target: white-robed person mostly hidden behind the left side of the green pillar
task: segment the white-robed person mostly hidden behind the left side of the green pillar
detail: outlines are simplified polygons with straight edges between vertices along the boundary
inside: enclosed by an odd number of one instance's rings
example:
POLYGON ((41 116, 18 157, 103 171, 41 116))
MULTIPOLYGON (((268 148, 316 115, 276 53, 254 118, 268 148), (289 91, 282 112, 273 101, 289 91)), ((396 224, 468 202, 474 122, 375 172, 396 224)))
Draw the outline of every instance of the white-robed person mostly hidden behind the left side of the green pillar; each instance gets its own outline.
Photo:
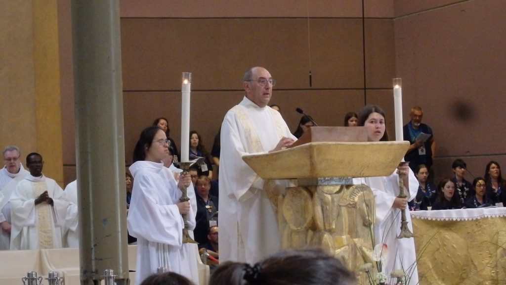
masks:
POLYGON ((79 217, 77 215, 77 180, 65 187, 65 196, 71 202, 67 208, 65 227, 63 227, 63 247, 79 247, 79 217))

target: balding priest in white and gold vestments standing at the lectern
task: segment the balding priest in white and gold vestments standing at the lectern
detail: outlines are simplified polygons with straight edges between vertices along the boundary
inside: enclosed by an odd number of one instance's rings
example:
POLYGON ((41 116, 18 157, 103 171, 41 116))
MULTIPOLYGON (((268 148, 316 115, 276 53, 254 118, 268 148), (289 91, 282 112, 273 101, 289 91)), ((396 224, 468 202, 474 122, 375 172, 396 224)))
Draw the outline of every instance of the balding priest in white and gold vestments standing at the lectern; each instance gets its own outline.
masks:
MULTIPOLYGON (((264 181, 242 156, 278 151, 296 138, 279 112, 267 104, 275 84, 263 67, 249 69, 243 77, 246 95, 225 115, 220 153, 220 262, 255 263, 280 248, 274 208, 264 191, 264 181)), ((276 181, 286 186, 285 181, 276 181)))

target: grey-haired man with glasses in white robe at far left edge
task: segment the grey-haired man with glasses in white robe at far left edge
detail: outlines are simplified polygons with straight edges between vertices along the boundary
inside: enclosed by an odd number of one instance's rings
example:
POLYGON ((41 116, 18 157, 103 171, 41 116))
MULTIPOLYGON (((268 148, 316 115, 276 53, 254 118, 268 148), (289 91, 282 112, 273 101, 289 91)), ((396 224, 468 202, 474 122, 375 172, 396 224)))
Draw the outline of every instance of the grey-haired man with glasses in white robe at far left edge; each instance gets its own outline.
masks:
POLYGON ((8 146, 4 149, 5 167, 0 169, 0 193, 5 197, 0 202, 0 251, 11 248, 11 203, 9 203, 9 199, 16 184, 29 173, 21 165, 20 155, 16 146, 8 146))

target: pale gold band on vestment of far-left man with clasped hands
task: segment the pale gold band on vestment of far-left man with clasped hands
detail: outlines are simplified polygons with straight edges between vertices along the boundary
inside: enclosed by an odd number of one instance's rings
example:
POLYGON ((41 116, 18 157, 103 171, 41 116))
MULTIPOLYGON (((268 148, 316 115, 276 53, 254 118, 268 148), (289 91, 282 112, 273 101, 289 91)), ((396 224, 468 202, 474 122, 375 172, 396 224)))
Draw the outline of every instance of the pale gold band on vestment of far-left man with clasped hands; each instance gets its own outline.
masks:
MULTIPOLYGON (((35 197, 40 196, 40 194, 48 190, 46 181, 32 182, 32 185, 35 197)), ((46 202, 42 202, 35 206, 35 211, 37 215, 38 247, 41 249, 54 248, 51 205, 46 202)))

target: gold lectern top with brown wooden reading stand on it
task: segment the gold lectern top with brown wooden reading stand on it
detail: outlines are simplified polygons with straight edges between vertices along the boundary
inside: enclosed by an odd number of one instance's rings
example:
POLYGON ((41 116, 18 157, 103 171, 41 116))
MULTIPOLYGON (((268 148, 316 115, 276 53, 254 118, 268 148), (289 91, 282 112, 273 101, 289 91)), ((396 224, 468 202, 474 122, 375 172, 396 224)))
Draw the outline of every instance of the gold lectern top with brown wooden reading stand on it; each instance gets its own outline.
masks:
POLYGON ((364 127, 311 127, 289 149, 242 159, 263 179, 387 176, 409 148, 408 141, 366 140, 364 127))

